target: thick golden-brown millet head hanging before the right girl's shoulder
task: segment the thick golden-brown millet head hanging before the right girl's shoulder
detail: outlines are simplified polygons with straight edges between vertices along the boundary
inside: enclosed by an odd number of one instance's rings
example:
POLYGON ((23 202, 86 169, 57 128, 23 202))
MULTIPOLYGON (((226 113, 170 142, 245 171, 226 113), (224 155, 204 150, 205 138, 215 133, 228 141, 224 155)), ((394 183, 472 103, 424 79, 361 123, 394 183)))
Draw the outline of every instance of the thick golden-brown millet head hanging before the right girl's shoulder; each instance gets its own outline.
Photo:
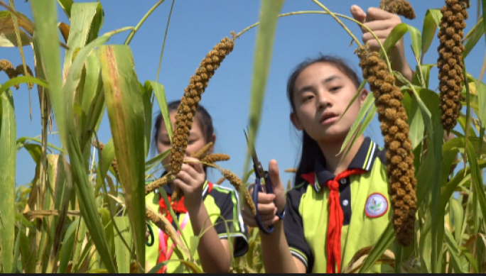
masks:
POLYGON ((362 46, 357 54, 363 77, 368 79, 369 87, 374 92, 374 103, 387 150, 387 175, 396 239, 406 246, 414 239, 417 200, 408 118, 401 102, 403 94, 394 85, 395 77, 377 52, 370 52, 367 46, 362 46))

